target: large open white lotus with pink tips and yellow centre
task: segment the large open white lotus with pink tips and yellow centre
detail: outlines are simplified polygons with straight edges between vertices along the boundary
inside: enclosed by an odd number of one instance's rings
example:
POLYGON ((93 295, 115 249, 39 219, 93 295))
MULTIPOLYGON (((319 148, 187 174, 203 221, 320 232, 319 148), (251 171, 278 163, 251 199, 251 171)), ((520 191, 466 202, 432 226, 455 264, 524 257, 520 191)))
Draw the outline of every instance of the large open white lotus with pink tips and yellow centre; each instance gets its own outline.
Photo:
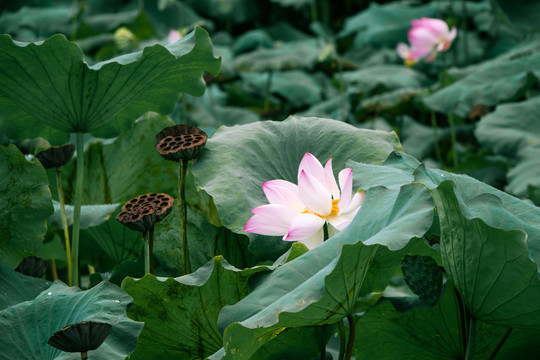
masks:
POLYGON ((313 249, 323 242, 326 223, 329 235, 343 230, 364 201, 363 191, 352 193, 352 169, 341 170, 338 179, 339 188, 332 159, 323 168, 315 156, 306 153, 298 168, 298 185, 285 180, 263 184, 270 204, 251 210, 254 215, 244 231, 283 236, 285 241, 299 241, 313 249))

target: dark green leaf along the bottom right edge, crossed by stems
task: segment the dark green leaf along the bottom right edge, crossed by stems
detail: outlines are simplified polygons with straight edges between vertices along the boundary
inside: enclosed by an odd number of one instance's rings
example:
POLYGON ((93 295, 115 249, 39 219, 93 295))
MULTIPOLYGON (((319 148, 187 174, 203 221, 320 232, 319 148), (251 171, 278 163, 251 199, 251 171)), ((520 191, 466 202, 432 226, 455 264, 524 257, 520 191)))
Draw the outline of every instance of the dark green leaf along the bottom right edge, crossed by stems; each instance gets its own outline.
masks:
MULTIPOLYGON (((451 282, 433 307, 399 312, 389 301, 368 309, 356 323, 357 359, 463 359, 459 304, 451 282), (384 343, 384 346, 381 346, 384 343)), ((506 329, 480 322, 474 358, 487 360, 506 329)), ((536 359, 538 331, 514 329, 497 359, 536 359), (519 355, 518 355, 519 354, 519 355)))

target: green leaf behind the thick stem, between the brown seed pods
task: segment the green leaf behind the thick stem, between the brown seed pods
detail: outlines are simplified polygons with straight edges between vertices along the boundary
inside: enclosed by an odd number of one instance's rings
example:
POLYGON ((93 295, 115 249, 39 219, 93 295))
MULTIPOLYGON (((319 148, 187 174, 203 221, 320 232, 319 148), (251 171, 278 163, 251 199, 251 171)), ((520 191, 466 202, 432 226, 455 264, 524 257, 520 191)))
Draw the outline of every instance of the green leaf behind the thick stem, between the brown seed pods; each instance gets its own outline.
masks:
MULTIPOLYGON (((171 125, 174 122, 168 117, 147 113, 114 142, 91 143, 85 151, 83 203, 124 203, 151 192, 176 194, 178 164, 163 159, 154 145, 156 134, 171 125)), ((64 166, 63 172, 66 202, 70 202, 76 162, 64 166)))

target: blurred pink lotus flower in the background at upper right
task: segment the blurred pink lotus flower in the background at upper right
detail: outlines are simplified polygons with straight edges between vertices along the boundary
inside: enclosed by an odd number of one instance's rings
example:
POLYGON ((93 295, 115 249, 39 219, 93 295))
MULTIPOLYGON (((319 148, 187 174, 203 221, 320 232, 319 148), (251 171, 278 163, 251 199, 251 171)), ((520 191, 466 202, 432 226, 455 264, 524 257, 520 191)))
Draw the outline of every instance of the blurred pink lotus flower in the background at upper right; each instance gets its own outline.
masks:
POLYGON ((448 25, 439 19, 421 18, 411 22, 409 42, 411 47, 399 43, 397 53, 405 59, 406 65, 414 65, 419 59, 428 56, 426 62, 433 61, 440 51, 446 51, 456 37, 457 30, 448 29, 448 25))

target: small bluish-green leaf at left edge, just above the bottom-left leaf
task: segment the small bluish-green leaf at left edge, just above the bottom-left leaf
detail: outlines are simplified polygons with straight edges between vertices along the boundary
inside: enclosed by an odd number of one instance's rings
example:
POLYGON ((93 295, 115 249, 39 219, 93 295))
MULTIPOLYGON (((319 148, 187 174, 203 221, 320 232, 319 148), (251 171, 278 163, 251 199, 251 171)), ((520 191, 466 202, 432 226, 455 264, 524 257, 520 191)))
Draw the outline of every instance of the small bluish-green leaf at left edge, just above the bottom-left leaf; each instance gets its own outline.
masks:
POLYGON ((49 286, 50 281, 23 275, 0 263, 0 311, 34 299, 49 286))

